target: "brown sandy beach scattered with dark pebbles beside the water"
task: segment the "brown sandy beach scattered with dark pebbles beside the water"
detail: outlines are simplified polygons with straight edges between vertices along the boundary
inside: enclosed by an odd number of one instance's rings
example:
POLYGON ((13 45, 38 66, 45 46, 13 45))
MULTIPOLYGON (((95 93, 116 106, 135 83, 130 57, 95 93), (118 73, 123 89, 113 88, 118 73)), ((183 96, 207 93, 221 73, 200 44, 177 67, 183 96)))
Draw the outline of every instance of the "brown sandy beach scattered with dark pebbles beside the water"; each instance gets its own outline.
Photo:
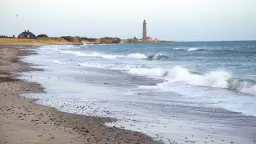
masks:
POLYGON ((0 144, 159 143, 145 134, 104 126, 111 118, 66 114, 19 97, 43 92, 38 84, 15 78, 18 72, 35 70, 18 58, 32 54, 20 49, 35 47, 0 45, 0 144))

